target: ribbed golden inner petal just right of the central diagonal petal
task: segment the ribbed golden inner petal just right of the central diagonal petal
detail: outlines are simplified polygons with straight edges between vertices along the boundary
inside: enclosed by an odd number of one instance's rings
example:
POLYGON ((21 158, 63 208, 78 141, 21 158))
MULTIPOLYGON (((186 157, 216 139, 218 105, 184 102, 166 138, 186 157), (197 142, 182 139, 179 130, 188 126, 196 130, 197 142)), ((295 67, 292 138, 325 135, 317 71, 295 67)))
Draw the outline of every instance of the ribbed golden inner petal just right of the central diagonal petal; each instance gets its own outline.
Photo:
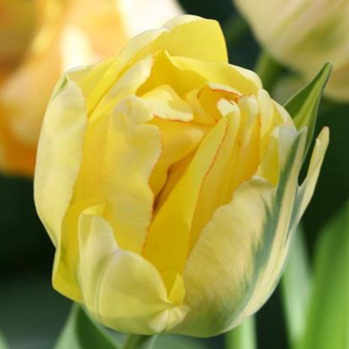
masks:
POLYGON ((189 252, 215 210, 231 201, 233 192, 253 175, 259 163, 259 109, 256 98, 244 96, 237 104, 222 99, 218 107, 227 120, 228 132, 201 187, 189 252))

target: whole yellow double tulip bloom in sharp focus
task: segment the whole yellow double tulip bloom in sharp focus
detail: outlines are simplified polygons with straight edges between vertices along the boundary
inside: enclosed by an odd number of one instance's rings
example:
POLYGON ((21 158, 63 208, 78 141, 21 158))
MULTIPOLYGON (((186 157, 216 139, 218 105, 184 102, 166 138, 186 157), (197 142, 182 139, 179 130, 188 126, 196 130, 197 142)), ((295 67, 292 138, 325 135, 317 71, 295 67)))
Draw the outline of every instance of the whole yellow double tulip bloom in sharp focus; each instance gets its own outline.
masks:
POLYGON ((328 143, 301 190, 306 128, 228 64, 216 21, 179 16, 51 97, 35 174, 53 285, 122 332, 211 336, 266 301, 328 143))

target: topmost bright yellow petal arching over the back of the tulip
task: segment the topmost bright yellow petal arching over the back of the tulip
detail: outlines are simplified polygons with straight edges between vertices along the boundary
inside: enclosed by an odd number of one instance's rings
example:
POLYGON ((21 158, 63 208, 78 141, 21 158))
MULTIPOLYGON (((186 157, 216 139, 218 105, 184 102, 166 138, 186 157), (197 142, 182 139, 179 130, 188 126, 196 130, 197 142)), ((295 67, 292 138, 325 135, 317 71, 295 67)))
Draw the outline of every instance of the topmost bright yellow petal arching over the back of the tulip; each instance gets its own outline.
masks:
POLYGON ((93 111, 102 96, 118 80, 123 70, 158 50, 207 61, 228 62, 227 48, 218 22, 201 17, 183 15, 174 18, 163 28, 148 30, 134 37, 121 53, 91 69, 80 82, 90 94, 88 110, 93 111), (195 45, 193 45, 193 42, 195 45))

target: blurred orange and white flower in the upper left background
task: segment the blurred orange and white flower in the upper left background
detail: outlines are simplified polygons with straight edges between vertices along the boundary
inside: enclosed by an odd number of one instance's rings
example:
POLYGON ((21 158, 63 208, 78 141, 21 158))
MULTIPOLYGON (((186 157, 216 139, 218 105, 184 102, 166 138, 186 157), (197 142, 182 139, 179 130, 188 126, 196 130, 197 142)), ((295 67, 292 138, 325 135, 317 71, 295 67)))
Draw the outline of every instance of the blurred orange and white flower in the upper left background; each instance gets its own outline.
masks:
POLYGON ((175 0, 2 1, 0 171, 33 174, 42 118, 62 72, 116 54, 131 36, 180 13, 175 0))

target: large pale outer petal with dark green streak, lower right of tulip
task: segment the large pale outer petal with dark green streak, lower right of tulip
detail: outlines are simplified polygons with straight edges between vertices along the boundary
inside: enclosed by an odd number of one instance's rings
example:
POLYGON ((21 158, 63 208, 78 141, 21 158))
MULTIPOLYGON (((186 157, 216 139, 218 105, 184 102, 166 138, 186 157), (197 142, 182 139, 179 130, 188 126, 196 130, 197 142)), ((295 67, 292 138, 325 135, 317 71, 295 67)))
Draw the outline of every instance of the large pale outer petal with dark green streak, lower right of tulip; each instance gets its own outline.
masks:
POLYGON ((305 137, 280 128, 279 186, 253 177, 203 229, 183 274, 190 312, 173 332, 216 335, 237 326, 268 298, 287 250, 305 137))

